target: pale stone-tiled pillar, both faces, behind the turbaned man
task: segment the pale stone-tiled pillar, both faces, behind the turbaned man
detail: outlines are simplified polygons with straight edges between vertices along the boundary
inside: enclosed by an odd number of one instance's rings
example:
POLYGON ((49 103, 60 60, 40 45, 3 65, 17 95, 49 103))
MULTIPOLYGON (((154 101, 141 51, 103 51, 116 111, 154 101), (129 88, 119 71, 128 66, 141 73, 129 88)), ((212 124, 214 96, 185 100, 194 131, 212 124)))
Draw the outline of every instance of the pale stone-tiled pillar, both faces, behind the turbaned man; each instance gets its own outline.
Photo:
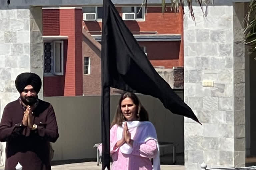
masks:
MULTIPOLYGON (((18 99, 15 79, 23 72, 35 72, 43 80, 41 8, 9 9, 0 7, 0 110, 18 99)), ((43 89, 40 91, 40 98, 43 89)), ((5 143, 2 162, 5 162, 5 143)), ((0 161, 1 163, 1 161, 0 161)))

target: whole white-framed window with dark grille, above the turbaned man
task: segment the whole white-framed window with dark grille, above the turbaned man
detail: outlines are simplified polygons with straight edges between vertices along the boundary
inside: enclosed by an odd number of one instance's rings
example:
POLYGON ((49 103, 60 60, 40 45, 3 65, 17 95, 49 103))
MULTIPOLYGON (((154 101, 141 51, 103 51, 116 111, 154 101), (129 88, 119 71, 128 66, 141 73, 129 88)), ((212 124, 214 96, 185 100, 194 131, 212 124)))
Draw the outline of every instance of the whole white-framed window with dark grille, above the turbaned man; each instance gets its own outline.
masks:
POLYGON ((44 74, 63 75, 63 41, 44 42, 44 74))

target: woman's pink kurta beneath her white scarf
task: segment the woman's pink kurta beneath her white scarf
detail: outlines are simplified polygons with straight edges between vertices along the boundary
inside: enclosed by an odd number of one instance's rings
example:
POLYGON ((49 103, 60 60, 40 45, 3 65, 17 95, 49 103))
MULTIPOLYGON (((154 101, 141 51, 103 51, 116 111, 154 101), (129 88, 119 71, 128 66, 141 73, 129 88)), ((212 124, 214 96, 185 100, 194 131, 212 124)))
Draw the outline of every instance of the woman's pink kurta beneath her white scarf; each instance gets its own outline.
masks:
MULTIPOLYGON (((150 158, 157 153, 156 141, 153 139, 146 143, 134 141, 132 153, 124 154, 116 147, 117 127, 118 125, 114 125, 110 129, 110 154, 113 160, 111 170, 152 170, 150 158)), ((99 150, 101 151, 101 147, 99 150)))

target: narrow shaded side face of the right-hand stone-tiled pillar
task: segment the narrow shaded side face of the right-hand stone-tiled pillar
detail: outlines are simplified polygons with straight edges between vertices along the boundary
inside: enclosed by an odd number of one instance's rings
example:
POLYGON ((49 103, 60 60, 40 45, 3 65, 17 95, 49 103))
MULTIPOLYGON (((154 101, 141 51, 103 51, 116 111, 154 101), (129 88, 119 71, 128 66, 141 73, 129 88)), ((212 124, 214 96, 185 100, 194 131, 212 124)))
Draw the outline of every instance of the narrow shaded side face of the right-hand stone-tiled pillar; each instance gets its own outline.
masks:
MULTIPOLYGON (((233 3, 234 55, 234 165, 245 165, 245 3, 233 3)), ((248 57, 248 56, 247 56, 248 57)))

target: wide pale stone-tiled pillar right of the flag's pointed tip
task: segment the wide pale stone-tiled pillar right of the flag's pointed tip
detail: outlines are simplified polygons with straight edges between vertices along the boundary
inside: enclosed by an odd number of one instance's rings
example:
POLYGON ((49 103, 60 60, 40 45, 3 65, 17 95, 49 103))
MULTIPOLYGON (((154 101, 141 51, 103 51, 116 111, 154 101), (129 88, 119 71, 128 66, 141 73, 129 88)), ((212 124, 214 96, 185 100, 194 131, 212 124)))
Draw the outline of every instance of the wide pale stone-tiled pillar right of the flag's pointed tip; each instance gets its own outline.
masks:
MULTIPOLYGON (((243 8, 243 7, 241 7, 243 8)), ((202 126, 184 118, 185 169, 245 164, 243 58, 235 58, 232 0, 194 6, 196 24, 185 8, 184 99, 202 126), (240 65, 239 65, 240 64, 240 65), (202 81, 214 82, 203 87, 202 81)))

